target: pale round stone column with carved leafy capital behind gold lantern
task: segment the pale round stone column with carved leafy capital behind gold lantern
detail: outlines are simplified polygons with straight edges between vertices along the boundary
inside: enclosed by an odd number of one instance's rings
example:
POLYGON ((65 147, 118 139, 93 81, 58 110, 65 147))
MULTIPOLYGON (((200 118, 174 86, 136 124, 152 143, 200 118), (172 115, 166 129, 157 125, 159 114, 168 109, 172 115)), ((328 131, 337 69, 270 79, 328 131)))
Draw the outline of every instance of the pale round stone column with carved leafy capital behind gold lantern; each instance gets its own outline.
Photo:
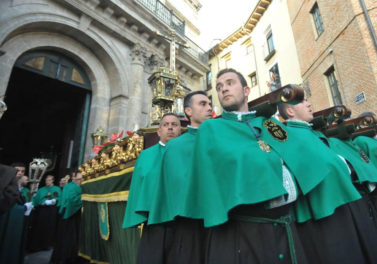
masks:
POLYGON ((131 49, 131 74, 130 93, 127 106, 126 129, 131 129, 132 124, 141 124, 141 111, 143 106, 143 72, 146 62, 152 54, 139 44, 131 49))

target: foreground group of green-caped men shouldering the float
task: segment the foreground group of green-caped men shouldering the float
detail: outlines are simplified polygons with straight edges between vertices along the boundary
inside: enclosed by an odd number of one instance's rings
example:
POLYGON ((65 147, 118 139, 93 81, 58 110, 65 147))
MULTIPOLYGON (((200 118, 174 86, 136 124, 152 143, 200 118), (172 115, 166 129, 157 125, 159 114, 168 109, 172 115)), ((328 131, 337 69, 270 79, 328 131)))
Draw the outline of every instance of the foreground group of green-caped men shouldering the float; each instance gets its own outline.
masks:
POLYGON ((216 91, 221 118, 192 92, 187 132, 165 114, 136 160, 123 222, 142 225, 136 262, 377 263, 377 140, 313 130, 306 99, 278 106, 286 124, 257 116, 234 69, 216 91))

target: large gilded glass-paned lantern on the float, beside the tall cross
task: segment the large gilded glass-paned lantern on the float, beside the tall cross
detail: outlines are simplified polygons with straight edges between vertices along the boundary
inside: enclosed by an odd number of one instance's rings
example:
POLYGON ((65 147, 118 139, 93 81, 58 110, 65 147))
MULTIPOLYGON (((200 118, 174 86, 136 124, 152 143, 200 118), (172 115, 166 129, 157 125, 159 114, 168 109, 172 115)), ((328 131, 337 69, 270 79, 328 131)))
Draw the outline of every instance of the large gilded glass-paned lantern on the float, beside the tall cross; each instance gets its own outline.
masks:
MULTIPOLYGON (((160 108, 161 116, 170 112, 172 105, 175 103, 174 95, 176 86, 179 83, 178 74, 170 71, 167 67, 160 67, 148 78, 148 84, 152 89, 153 99, 152 106, 160 108)), ((155 121, 155 120, 153 120, 155 121)))

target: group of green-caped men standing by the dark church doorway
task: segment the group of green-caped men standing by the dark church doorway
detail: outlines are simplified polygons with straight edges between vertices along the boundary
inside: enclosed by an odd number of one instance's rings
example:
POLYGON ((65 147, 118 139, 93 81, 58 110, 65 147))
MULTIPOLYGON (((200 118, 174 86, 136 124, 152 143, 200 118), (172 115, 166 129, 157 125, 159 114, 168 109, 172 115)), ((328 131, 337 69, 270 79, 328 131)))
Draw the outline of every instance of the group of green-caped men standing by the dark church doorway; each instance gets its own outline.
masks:
MULTIPOLYGON (((46 186, 36 192, 28 186, 26 165, 0 165, 0 263, 22 264, 25 251, 54 247, 49 263, 81 263, 78 235, 81 215, 81 173, 72 173, 67 183, 44 177, 46 186), (16 183, 16 184, 15 184, 16 183), (17 189, 16 189, 17 188, 17 189)), ((35 186, 31 186, 35 190, 35 186)))

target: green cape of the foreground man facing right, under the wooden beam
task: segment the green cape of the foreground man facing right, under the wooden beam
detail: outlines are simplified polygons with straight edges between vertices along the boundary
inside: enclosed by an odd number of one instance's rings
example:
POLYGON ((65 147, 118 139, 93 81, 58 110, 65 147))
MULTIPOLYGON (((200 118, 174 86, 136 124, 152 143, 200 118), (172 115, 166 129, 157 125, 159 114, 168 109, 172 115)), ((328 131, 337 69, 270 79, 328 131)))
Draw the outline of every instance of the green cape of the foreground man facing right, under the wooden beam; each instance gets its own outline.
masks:
MULTIPOLYGON (((298 136, 307 144, 307 148, 315 150, 310 155, 306 150, 302 152, 303 158, 311 163, 307 166, 319 170, 321 167, 327 167, 331 171, 313 190, 305 196, 299 196, 294 206, 295 221, 300 223, 312 218, 320 219, 332 215, 337 207, 361 198, 351 182, 344 161, 320 140, 310 125, 288 121, 287 131, 290 135, 298 136)), ((307 172, 307 166, 302 170, 303 173, 307 172)))

